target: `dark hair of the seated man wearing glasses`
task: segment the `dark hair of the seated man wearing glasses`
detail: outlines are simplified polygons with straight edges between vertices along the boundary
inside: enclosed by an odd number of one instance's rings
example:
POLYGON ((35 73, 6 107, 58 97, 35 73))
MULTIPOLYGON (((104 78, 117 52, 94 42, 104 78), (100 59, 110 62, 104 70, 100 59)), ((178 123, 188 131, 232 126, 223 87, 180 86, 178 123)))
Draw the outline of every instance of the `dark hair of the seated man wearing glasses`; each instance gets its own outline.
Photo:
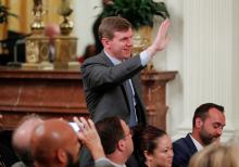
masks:
POLYGON ((111 154, 115 151, 117 142, 124 138, 124 130, 120 117, 108 117, 96 123, 104 153, 111 154))

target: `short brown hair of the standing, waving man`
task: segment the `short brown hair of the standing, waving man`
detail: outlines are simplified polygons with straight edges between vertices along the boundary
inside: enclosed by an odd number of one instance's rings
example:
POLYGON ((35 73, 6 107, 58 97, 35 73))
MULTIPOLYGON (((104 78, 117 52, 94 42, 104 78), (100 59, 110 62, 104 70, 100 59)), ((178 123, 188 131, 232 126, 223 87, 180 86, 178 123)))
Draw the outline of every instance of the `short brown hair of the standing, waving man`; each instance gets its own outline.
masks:
POLYGON ((105 17, 99 26, 99 37, 100 39, 103 37, 112 39, 115 31, 127 31, 129 28, 131 28, 131 24, 123 17, 105 17))

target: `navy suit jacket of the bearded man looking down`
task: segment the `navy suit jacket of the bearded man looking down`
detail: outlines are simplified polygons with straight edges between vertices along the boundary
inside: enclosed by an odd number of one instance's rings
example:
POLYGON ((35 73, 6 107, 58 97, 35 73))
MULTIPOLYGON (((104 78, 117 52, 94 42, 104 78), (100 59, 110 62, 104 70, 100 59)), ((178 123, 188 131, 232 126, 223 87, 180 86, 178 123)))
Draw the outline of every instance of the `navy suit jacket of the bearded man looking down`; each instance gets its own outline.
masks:
POLYGON ((174 150, 173 167, 187 167, 190 157, 196 152, 198 152, 189 133, 186 136, 186 138, 181 138, 175 141, 173 143, 173 150, 174 150))

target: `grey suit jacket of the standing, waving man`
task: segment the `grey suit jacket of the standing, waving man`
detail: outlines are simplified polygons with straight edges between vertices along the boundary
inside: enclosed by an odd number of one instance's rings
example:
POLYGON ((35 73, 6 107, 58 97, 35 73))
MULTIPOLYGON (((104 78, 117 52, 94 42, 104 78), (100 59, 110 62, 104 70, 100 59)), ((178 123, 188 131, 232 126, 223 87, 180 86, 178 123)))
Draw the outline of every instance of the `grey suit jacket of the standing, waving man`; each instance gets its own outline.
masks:
MULTIPOLYGON (((131 78, 135 85, 135 76, 142 68, 139 56, 114 66, 103 51, 84 62, 81 66, 84 90, 87 106, 95 123, 110 116, 120 116, 126 124, 129 123, 129 102, 123 84, 131 78)), ((144 107, 136 88, 135 93, 137 117, 139 124, 144 125, 144 107)))

